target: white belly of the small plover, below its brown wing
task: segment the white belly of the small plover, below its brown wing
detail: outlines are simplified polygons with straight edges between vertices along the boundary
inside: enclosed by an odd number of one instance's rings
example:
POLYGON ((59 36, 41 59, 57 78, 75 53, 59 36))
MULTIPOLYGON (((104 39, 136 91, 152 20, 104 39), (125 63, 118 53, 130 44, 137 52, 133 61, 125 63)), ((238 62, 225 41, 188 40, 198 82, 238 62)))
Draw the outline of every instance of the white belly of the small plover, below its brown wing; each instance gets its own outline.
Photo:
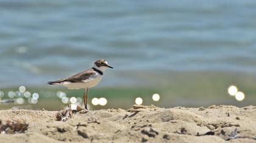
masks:
POLYGON ((85 82, 71 82, 71 83, 62 83, 61 85, 68 87, 69 89, 80 89, 80 88, 90 88, 94 87, 101 81, 101 76, 98 76, 97 78, 94 78, 90 81, 85 82))

